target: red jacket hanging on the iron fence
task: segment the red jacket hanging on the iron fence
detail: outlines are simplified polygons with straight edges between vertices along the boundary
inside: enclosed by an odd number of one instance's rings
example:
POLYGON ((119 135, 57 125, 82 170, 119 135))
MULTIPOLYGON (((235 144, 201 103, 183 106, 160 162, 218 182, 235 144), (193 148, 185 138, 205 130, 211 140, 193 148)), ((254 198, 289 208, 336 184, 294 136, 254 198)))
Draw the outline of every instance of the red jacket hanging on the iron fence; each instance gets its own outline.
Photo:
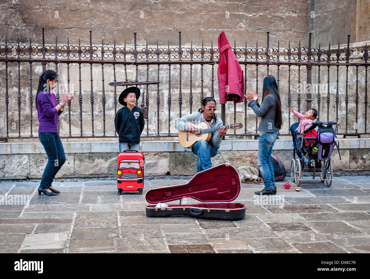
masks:
POLYGON ((218 36, 218 49, 220 50, 220 58, 218 62, 217 78, 220 104, 226 104, 226 101, 243 102, 243 70, 223 31, 218 36))

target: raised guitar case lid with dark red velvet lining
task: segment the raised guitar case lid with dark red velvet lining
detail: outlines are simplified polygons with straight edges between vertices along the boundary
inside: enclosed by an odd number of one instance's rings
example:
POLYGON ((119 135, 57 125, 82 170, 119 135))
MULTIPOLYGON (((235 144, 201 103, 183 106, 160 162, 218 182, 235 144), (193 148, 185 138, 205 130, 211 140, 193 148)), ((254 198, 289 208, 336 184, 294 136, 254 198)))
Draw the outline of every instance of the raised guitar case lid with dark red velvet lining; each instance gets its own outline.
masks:
POLYGON ((238 172, 233 166, 222 164, 195 174, 186 184, 149 190, 145 199, 151 204, 165 203, 185 197, 194 198, 203 203, 225 202, 235 200, 239 192, 238 172))

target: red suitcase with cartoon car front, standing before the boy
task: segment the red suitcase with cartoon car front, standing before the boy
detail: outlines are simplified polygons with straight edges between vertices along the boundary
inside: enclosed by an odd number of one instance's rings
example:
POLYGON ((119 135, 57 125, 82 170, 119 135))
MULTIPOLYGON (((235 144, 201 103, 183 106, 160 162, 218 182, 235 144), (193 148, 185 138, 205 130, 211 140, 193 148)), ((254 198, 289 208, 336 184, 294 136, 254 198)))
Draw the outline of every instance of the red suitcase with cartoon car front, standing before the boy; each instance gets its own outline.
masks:
POLYGON ((144 155, 126 150, 117 156, 117 189, 122 192, 139 192, 144 188, 144 155))

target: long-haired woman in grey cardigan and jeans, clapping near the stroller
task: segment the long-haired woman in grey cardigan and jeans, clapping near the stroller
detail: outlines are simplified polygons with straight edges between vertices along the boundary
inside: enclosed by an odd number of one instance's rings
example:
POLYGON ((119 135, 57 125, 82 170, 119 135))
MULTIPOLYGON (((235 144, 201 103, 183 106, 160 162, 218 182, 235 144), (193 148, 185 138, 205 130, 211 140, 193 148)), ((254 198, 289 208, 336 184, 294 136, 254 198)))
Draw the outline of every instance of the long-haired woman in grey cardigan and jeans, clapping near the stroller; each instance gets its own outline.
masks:
POLYGON ((253 95, 247 90, 245 98, 248 99, 248 106, 261 118, 258 126, 259 142, 257 165, 263 176, 265 188, 255 192, 256 195, 276 194, 274 169, 271 164, 272 148, 277 138, 277 131, 282 126, 281 101, 277 90, 276 79, 268 75, 263 79, 262 104, 258 104, 259 95, 253 91, 253 95))

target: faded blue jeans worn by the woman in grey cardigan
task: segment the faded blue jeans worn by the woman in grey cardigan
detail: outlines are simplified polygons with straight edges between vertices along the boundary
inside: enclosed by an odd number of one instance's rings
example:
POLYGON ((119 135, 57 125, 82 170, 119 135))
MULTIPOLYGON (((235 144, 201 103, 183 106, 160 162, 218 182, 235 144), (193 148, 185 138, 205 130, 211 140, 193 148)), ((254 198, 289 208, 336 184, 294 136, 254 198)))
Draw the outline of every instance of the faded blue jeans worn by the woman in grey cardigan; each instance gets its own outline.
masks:
POLYGON ((277 132, 267 133, 259 137, 257 165, 261 167, 265 190, 272 190, 275 187, 275 174, 271 164, 271 154, 276 137, 277 132))

